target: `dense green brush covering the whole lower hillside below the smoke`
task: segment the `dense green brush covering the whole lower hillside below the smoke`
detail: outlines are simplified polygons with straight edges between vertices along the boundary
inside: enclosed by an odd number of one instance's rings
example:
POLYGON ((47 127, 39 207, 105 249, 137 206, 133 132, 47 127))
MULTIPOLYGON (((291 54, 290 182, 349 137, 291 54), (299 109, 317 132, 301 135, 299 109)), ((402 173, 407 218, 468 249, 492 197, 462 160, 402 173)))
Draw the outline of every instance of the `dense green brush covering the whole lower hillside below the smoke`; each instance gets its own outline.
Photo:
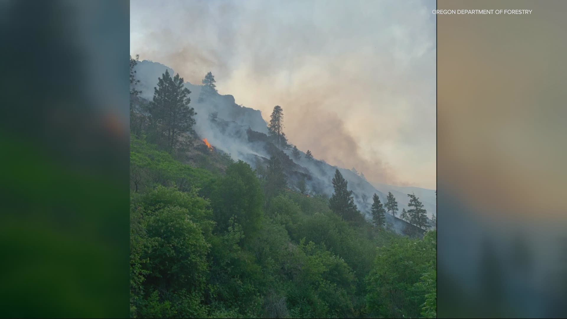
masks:
POLYGON ((434 231, 387 230, 378 196, 366 221, 338 170, 329 199, 287 188, 275 157, 262 172, 208 149, 190 162, 168 125, 130 136, 132 317, 436 316, 434 231))

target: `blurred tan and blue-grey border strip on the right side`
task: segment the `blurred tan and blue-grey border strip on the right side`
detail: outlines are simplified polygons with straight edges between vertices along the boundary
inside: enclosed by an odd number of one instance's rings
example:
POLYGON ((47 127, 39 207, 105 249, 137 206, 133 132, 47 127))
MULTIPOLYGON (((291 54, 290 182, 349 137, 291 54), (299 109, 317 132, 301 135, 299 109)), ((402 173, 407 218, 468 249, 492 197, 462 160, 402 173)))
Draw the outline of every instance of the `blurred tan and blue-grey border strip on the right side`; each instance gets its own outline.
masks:
POLYGON ((438 316, 565 318, 567 2, 437 9, 438 316))

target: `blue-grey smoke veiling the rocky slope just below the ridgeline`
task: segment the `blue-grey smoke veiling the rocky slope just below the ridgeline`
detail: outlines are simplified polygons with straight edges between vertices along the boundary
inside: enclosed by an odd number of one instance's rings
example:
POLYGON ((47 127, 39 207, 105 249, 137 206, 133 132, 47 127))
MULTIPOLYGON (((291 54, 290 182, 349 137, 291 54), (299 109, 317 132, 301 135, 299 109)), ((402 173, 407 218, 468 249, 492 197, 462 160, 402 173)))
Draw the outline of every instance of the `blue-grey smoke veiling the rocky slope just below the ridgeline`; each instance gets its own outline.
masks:
MULTIPOLYGON (((138 90, 142 91, 142 98, 148 100, 153 98, 158 77, 162 77, 166 70, 172 76, 175 75, 174 70, 158 62, 138 62, 136 76, 140 81, 138 90)), ((402 190, 400 187, 386 184, 379 184, 379 187, 375 187, 352 170, 332 166, 315 158, 308 159, 306 154, 301 151, 299 159, 293 158, 291 149, 282 150, 269 140, 267 136, 268 126, 261 112, 236 104, 234 96, 214 94, 204 101, 198 102, 202 86, 185 82, 185 87, 191 90, 189 95, 191 107, 197 112, 195 131, 201 138, 207 138, 215 149, 230 154, 233 159, 241 159, 252 167, 257 167, 257 165, 266 165, 270 157, 278 157, 282 162, 282 167, 284 167, 289 188, 297 189, 299 180, 305 179, 309 190, 327 196, 333 194, 331 181, 335 175, 335 170, 338 169, 348 182, 349 190, 353 191, 354 202, 367 220, 371 219, 371 203, 363 203, 363 194, 369 199, 377 194, 382 203, 385 203, 386 194, 391 191, 399 202, 400 211, 407 204, 407 195, 404 194, 404 191, 407 190, 405 189, 402 190), (211 117, 211 114, 216 116, 211 117)), ((430 191, 422 188, 420 190, 430 191)), ((431 215, 430 202, 430 199, 424 201, 429 216, 431 215)), ((416 236, 422 236, 423 230, 389 213, 386 214, 386 220, 397 233, 403 234, 411 231, 416 236)))

